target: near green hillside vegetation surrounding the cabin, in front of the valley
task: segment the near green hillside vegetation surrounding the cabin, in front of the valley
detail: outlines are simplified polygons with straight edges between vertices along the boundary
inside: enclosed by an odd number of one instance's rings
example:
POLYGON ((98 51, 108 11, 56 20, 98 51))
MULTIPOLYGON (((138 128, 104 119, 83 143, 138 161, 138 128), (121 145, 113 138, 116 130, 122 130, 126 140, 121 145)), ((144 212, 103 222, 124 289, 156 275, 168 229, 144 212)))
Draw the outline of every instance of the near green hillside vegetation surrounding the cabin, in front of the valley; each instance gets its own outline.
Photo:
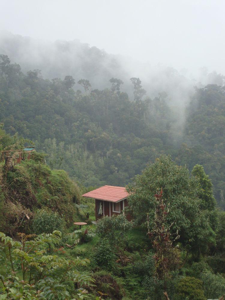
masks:
POLYGON ((1 299, 223 300, 225 212, 202 166, 161 155, 127 186, 132 221, 93 222, 88 189, 26 142, 0 128, 1 299))

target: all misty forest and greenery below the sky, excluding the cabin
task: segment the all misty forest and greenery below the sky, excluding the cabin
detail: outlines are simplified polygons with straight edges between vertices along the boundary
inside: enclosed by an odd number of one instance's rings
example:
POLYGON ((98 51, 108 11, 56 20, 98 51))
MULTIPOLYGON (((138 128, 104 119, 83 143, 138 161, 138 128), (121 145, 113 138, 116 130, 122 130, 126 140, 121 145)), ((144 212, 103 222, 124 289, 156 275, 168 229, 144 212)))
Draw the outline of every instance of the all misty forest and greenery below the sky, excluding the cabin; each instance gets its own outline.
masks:
POLYGON ((224 75, 2 31, 0 151, 0 300, 224 300, 224 75))

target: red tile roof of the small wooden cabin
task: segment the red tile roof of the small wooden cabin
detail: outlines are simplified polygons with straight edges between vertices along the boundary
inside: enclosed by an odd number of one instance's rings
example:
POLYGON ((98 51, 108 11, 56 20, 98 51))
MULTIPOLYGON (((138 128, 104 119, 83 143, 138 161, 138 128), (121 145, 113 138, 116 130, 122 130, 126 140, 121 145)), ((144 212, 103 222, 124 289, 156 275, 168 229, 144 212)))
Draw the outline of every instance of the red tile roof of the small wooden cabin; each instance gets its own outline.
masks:
POLYGON ((128 192, 125 187, 114 187, 111 185, 104 185, 91 192, 82 195, 87 198, 95 198, 99 200, 105 200, 110 202, 117 202, 125 199, 128 196, 128 192))

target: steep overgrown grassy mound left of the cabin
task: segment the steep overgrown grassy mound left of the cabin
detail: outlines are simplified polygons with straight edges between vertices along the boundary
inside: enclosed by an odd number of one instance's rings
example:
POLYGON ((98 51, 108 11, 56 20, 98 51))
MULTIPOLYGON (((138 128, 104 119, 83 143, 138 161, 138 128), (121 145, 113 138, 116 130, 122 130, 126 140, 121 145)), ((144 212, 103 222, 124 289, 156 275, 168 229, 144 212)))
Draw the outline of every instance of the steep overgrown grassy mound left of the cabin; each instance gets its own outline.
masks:
MULTIPOLYGON (((2 133, 1 140, 4 139, 2 133)), ((44 164, 44 156, 36 152, 30 160, 14 165, 16 153, 9 152, 7 160, 0 164, 1 230, 10 236, 16 232, 29 233, 34 230, 32 219, 40 209, 46 213, 50 209, 69 226, 75 213, 74 203, 79 202, 80 197, 76 184, 65 171, 50 170, 44 164)))

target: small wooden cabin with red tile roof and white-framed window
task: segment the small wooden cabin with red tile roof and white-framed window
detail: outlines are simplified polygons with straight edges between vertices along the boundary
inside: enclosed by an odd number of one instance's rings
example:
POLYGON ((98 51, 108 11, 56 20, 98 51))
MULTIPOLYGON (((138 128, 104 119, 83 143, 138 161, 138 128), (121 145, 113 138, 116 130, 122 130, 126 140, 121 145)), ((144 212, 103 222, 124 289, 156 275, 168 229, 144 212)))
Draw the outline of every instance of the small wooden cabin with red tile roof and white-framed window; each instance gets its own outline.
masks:
MULTIPOLYGON (((82 196, 95 199, 96 220, 104 216, 111 217, 113 214, 125 214, 124 208, 128 206, 128 192, 125 187, 104 185, 82 196)), ((129 221, 132 219, 132 215, 129 212, 126 212, 126 217, 129 221)))

